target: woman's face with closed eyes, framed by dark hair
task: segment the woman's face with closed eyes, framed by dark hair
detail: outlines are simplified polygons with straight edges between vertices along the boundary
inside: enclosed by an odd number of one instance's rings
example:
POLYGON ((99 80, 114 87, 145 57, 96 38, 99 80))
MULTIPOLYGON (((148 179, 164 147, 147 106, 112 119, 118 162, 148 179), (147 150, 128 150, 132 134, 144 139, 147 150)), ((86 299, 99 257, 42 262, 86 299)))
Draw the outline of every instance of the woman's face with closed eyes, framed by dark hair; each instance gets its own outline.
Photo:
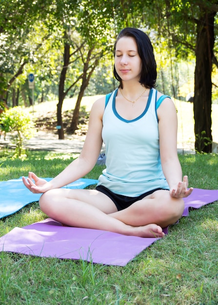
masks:
POLYGON ((115 49, 115 69, 122 81, 137 80, 141 74, 141 58, 132 37, 122 37, 115 49))

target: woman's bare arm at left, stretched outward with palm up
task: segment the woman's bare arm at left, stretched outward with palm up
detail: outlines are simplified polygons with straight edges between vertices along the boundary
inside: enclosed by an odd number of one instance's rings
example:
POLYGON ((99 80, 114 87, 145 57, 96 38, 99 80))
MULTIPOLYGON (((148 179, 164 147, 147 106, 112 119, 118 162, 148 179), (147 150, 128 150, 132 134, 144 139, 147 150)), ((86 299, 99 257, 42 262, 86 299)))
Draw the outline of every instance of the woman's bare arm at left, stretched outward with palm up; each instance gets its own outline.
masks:
POLYGON ((92 106, 89 116, 88 132, 79 157, 49 182, 46 182, 44 179, 39 179, 34 173, 29 172, 27 180, 23 177, 23 183, 30 191, 42 193, 51 189, 61 188, 83 177, 92 170, 102 146, 101 131, 104 105, 105 97, 102 97, 92 106))

